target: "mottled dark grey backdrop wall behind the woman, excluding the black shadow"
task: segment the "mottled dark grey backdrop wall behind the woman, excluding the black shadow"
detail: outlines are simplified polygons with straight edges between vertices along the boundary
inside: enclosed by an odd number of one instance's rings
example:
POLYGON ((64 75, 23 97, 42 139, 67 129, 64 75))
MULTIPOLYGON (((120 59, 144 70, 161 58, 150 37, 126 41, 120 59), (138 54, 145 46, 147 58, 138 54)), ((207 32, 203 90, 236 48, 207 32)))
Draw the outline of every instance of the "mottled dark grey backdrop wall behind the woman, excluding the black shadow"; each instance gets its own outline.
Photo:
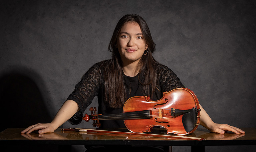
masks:
MULTIPOLYGON (((256 126, 255 1, 2 0, 1 130, 50 122, 88 68, 110 58, 114 27, 130 13, 147 21, 154 57, 195 92, 213 121, 256 126)), ((251 148, 207 146, 206 151, 251 148)), ((78 150, 83 148, 73 147, 78 150)))

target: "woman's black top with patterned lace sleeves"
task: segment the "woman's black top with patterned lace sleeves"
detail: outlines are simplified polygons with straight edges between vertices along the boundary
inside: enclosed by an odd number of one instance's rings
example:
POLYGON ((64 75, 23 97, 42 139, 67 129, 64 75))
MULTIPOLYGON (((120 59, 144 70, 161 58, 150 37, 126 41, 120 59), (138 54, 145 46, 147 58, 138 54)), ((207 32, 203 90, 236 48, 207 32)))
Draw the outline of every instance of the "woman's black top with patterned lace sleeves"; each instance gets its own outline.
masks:
MULTIPOLYGON (((84 110, 91 104, 95 96, 98 97, 99 104, 97 113, 102 115, 122 113, 122 108, 113 109, 104 102, 104 73, 107 73, 109 69, 108 63, 107 61, 102 61, 94 64, 83 75, 81 81, 76 84, 75 90, 67 98, 67 100, 75 101, 80 108, 68 120, 72 125, 77 125, 82 121, 84 110)), ((158 64, 156 70, 157 89, 153 96, 151 96, 151 100, 156 101, 161 99, 163 92, 184 87, 177 75, 167 66, 158 64)), ((126 99, 133 96, 143 96, 142 85, 138 81, 138 76, 129 77, 124 75, 124 83, 126 87, 126 99)), ((123 120, 101 120, 100 123, 101 128, 126 128, 123 120)))

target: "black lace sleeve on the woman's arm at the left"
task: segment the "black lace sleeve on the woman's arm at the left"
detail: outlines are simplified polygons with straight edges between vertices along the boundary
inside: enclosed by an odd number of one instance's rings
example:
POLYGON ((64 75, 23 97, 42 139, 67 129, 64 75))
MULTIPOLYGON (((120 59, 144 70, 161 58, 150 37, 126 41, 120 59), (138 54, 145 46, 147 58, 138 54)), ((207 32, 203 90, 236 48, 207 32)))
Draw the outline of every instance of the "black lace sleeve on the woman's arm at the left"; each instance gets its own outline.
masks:
POLYGON ((93 65, 82 77, 81 81, 75 86, 75 90, 67 100, 75 101, 80 110, 69 120, 72 125, 81 123, 84 110, 91 104, 93 98, 97 96, 100 85, 102 84, 102 73, 99 64, 93 65))

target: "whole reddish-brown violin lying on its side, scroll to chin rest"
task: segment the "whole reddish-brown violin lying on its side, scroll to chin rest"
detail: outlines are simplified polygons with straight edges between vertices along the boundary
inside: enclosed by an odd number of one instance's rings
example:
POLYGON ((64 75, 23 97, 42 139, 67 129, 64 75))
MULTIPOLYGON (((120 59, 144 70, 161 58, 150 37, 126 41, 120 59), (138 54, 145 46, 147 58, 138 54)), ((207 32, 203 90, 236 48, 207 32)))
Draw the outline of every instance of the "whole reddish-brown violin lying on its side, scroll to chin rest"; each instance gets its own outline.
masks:
POLYGON ((157 101, 148 96, 131 97, 124 103, 120 114, 101 115, 91 107, 91 115, 85 114, 82 119, 93 120, 94 127, 100 127, 99 120, 123 119, 126 128, 135 133, 151 132, 154 126, 165 128, 167 134, 186 135, 195 131, 201 109, 194 92, 177 88, 163 94, 163 98, 157 101))

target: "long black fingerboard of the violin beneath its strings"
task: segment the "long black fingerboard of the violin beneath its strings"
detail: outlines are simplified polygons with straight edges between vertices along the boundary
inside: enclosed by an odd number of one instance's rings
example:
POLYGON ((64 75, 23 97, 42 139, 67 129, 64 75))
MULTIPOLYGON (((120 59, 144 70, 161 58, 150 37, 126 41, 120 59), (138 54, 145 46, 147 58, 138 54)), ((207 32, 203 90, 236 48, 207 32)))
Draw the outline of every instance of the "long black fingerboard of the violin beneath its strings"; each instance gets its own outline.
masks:
POLYGON ((98 120, 111 119, 150 119, 152 117, 151 110, 125 112, 119 114, 98 115, 98 120))

